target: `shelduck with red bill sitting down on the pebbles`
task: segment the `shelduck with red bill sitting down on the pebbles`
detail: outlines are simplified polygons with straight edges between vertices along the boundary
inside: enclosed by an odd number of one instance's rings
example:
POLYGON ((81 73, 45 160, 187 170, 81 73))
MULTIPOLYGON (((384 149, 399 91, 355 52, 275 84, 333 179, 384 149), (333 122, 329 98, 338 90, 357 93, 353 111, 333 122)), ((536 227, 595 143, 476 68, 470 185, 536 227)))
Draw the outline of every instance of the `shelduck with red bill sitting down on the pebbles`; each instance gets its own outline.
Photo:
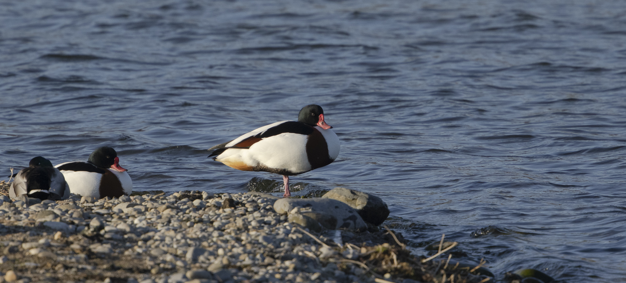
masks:
POLYGON ((120 166, 110 147, 94 150, 87 162, 65 162, 55 166, 63 173, 69 190, 84 197, 121 197, 133 192, 128 170, 120 166))

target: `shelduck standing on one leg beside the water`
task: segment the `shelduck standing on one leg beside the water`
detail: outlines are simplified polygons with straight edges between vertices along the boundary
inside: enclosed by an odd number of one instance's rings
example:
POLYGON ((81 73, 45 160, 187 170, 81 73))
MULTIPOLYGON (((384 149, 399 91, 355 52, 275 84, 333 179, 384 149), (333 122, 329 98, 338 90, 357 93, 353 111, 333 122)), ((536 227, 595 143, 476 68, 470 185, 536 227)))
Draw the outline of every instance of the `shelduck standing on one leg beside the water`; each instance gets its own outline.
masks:
POLYGON ((311 104, 300 110, 298 121, 262 126, 209 148, 214 151, 208 157, 239 170, 280 174, 283 197, 290 197, 289 176, 329 165, 339 155, 339 138, 331 128, 322 107, 311 104))

